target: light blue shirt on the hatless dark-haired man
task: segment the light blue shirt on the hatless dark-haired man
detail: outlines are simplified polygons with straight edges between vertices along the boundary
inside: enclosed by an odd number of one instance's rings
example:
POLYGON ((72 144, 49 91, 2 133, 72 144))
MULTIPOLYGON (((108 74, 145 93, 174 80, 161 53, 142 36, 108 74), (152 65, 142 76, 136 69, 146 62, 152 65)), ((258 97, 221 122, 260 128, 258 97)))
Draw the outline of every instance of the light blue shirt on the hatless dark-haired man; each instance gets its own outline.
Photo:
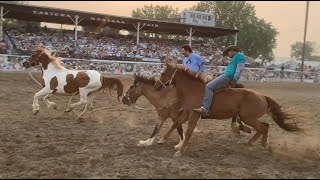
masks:
POLYGON ((196 53, 191 53, 188 57, 185 57, 182 63, 187 69, 195 73, 204 71, 204 60, 196 53))

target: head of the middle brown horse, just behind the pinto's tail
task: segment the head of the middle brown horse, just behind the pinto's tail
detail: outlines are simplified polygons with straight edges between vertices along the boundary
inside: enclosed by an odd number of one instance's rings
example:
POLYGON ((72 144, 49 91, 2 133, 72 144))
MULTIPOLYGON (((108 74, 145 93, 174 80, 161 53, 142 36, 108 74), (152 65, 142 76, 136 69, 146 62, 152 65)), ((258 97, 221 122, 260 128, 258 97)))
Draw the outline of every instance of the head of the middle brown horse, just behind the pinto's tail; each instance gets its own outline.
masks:
POLYGON ((137 99, 142 95, 142 87, 139 83, 139 78, 139 76, 134 74, 134 83, 124 94, 122 98, 123 104, 130 106, 131 104, 134 104, 137 101, 137 99))

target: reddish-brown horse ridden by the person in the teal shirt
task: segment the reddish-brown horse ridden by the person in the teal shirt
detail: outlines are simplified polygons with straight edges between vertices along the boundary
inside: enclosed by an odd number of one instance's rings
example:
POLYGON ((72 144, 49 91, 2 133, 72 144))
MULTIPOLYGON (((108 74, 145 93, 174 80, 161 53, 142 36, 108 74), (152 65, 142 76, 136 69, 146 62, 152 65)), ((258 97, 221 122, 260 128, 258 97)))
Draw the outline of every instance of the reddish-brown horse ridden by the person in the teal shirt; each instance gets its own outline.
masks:
MULTIPOLYGON (((188 118, 175 122, 172 126, 188 121, 185 139, 175 153, 180 156, 184 152, 190 140, 192 132, 200 119, 200 114, 194 109, 200 107, 204 96, 206 83, 190 76, 183 68, 177 67, 172 63, 166 63, 166 69, 154 85, 156 90, 160 90, 164 84, 172 82, 176 86, 178 97, 182 101, 182 108, 188 118)), ((223 88, 215 92, 211 107, 210 119, 229 119, 239 116, 241 121, 256 130, 254 136, 248 141, 252 145, 261 135, 261 145, 268 144, 269 124, 260 122, 258 119, 264 114, 269 113, 273 120, 286 131, 301 131, 294 122, 286 120, 292 119, 292 114, 283 112, 280 105, 268 96, 246 88, 223 88)))

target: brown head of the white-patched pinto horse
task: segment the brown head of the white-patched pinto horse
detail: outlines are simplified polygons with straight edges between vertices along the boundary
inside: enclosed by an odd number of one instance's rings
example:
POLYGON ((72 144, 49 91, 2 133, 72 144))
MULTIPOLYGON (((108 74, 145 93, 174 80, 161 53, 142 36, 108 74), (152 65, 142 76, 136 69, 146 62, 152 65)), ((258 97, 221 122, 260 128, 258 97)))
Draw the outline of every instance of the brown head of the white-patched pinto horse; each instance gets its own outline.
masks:
POLYGON ((45 52, 45 49, 38 48, 34 54, 32 54, 26 61, 22 63, 25 68, 34 67, 40 65, 41 67, 46 67, 50 63, 49 56, 45 52))

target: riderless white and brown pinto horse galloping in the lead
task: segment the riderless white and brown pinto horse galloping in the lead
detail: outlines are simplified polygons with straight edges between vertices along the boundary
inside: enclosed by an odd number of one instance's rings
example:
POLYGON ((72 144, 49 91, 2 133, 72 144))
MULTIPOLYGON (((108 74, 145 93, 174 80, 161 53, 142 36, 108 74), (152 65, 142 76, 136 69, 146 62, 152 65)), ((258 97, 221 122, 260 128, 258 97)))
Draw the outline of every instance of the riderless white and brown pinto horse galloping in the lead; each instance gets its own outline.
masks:
MULTIPOLYGON (((84 114, 87 110, 88 95, 100 90, 117 89, 118 100, 123 94, 123 84, 117 78, 109 78, 101 75, 94 70, 69 70, 66 69, 57 57, 51 56, 43 48, 38 48, 30 58, 23 62, 23 67, 29 68, 40 65, 44 80, 44 87, 34 95, 33 114, 39 112, 39 96, 45 96, 44 101, 49 107, 55 107, 55 103, 48 100, 49 94, 67 94, 72 95, 79 92, 80 101, 68 104, 67 112, 73 108, 86 104, 85 109, 80 114, 84 114)), ((119 100, 120 101, 120 100, 119 100)))

